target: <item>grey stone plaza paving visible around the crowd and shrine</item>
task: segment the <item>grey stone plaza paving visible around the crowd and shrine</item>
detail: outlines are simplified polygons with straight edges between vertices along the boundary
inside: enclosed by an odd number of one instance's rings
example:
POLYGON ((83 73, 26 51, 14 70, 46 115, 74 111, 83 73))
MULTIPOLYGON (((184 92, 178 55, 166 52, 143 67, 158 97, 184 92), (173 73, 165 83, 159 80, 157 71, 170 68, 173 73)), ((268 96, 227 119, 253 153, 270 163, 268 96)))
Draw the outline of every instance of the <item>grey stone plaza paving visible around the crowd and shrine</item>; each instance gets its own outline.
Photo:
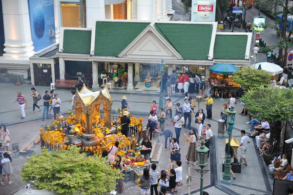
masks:
MULTIPOLYGON (((29 97, 31 94, 30 88, 32 86, 28 84, 22 84, 21 86, 15 86, 13 84, 8 83, 0 83, 1 94, 5 96, 1 96, 0 98, 0 121, 2 123, 7 124, 7 128, 11 132, 11 143, 19 143, 21 145, 25 145, 31 141, 33 137, 38 136, 39 128, 41 125, 51 124, 53 119, 48 119, 42 121, 42 111, 35 112, 34 114, 30 114, 32 111, 32 98, 29 97), (16 94, 18 91, 21 91, 22 94, 27 98, 29 107, 25 109, 26 117, 21 120, 21 112, 19 110, 19 106, 17 103, 11 103, 10 101, 15 100, 16 94)), ((49 87, 35 86, 37 91, 43 96, 45 90, 49 90, 49 87)), ((61 111, 63 113, 67 113, 67 111, 71 108, 71 104, 68 103, 71 99, 71 94, 69 89, 58 89, 56 90, 56 94, 59 95, 61 99, 61 111)), ((149 106, 152 100, 156 100, 159 102, 159 95, 155 92, 144 91, 144 92, 134 92, 134 91, 126 91, 126 90, 110 90, 111 97, 113 99, 112 113, 116 113, 115 107, 121 106, 121 97, 126 95, 128 98, 127 101, 130 105, 130 112, 133 112, 134 115, 145 115, 144 120, 146 120, 146 114, 149 111, 149 106)), ((194 96, 194 95, 193 95, 194 96)), ((175 94, 171 97, 171 101, 173 105, 177 102, 183 104, 184 97, 182 95, 175 94)), ((224 185, 220 183, 220 179, 222 177, 222 161, 220 160, 220 156, 224 154, 225 148, 225 139, 217 138, 217 120, 220 118, 220 112, 222 110, 223 103, 227 103, 228 99, 225 101, 220 101, 219 99, 214 99, 214 104, 212 107, 213 119, 205 120, 206 124, 211 124, 211 130, 213 132, 214 138, 211 142, 211 152, 209 165, 205 169, 209 169, 210 171, 204 176, 204 188, 205 191, 209 192, 211 195, 222 195, 222 194, 241 194, 241 195, 264 195, 264 194, 272 194, 272 182, 270 179, 268 167, 263 163, 262 158, 259 156, 259 152, 254 149, 255 139, 251 138, 251 144, 248 145, 247 151, 247 160, 248 166, 242 166, 241 174, 235 174, 236 180, 233 180, 232 185, 224 185)), ((42 104, 41 102, 39 104, 42 104)), ((40 105, 41 106, 41 105, 40 105)), ((204 109, 206 113, 205 105, 201 103, 200 107, 204 109)), ((42 106, 41 106, 42 108, 42 106)), ((242 105, 238 100, 238 104, 236 105, 235 110, 237 113, 241 112, 242 105)), ((247 116, 240 116, 236 114, 235 118, 235 129, 233 130, 233 135, 235 139, 240 139, 240 130, 249 129, 249 125, 245 122, 248 121, 249 118, 247 116)), ((194 119, 192 119, 191 125, 194 125, 194 119)), ((170 128, 173 131, 173 135, 175 136, 175 132, 173 126, 165 127, 165 129, 170 128)), ((182 161, 183 161, 183 182, 184 184, 179 187, 179 194, 187 193, 187 184, 184 176, 187 175, 188 166, 192 169, 198 168, 191 164, 187 164, 184 161, 184 157, 187 154, 188 143, 184 142, 185 138, 183 133, 188 133, 187 129, 182 129, 180 136, 180 146, 183 148, 181 150, 182 161)), ((227 134, 225 134, 227 138, 227 134)), ((164 144, 162 144, 163 146, 164 144)), ((10 148, 11 150, 11 148, 10 148)), ((167 169, 169 167, 169 151, 162 151, 160 156, 160 161, 158 164, 158 170, 167 169), (162 159, 162 160, 161 160, 162 159)), ((26 161, 25 157, 14 158, 13 159, 13 183, 11 185, 5 184, 4 186, 0 186, 0 194, 14 194, 18 189, 24 186, 24 183, 21 182, 21 177, 19 175, 21 165, 26 161)), ((199 185, 200 185, 200 175, 192 170, 192 193, 199 194, 199 185)), ((6 182, 7 183, 7 182, 6 182)), ((132 182, 127 182, 125 184, 125 191, 123 194, 139 194, 139 188, 136 187, 136 184, 132 182)))

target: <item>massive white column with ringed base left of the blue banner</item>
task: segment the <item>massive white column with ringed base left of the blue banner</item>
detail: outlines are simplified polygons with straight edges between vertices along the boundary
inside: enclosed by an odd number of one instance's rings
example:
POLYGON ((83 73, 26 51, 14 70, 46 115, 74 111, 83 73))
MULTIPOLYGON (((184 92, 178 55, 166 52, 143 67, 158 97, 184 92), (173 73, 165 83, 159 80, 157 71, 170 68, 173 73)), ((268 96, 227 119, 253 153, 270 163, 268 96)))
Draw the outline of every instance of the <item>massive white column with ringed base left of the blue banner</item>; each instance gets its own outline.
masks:
POLYGON ((2 0, 4 59, 28 59, 35 54, 27 0, 2 0))

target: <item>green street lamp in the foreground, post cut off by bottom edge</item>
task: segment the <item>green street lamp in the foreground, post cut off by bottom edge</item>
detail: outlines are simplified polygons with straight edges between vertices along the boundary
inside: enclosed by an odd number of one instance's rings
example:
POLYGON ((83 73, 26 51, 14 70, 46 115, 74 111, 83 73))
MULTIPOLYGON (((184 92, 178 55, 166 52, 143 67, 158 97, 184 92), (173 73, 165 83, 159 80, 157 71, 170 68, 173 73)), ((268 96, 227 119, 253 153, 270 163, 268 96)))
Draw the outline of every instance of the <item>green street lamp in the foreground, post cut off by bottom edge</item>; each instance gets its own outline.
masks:
POLYGON ((200 147, 196 148, 197 151, 197 164, 201 169, 195 169, 198 173, 200 173, 200 195, 203 195, 204 190, 204 174, 208 173, 209 170, 204 170, 204 167, 208 165, 208 154, 209 148, 205 146, 205 141, 200 142, 200 147))

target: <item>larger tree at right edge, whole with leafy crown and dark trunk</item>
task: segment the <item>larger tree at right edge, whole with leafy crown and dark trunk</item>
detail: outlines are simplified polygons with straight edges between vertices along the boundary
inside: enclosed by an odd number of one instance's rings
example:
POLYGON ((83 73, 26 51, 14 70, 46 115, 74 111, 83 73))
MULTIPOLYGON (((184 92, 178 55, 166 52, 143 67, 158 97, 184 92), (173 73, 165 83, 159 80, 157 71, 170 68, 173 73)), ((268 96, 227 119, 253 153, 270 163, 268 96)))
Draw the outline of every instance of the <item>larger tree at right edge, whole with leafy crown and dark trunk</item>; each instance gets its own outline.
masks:
POLYGON ((292 97, 292 89, 269 87, 252 90, 241 98, 248 111, 270 123, 270 154, 278 152, 283 124, 293 118, 292 97))

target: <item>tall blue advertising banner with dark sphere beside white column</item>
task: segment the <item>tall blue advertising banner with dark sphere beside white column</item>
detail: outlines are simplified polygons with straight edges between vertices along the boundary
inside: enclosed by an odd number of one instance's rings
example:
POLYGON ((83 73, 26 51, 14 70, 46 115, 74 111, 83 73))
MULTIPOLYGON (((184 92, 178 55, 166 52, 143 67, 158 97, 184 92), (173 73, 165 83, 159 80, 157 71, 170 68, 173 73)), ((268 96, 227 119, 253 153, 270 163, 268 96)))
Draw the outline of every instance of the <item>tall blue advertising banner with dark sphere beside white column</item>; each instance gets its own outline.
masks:
POLYGON ((29 21, 35 52, 56 42, 53 0, 28 0, 29 21))

